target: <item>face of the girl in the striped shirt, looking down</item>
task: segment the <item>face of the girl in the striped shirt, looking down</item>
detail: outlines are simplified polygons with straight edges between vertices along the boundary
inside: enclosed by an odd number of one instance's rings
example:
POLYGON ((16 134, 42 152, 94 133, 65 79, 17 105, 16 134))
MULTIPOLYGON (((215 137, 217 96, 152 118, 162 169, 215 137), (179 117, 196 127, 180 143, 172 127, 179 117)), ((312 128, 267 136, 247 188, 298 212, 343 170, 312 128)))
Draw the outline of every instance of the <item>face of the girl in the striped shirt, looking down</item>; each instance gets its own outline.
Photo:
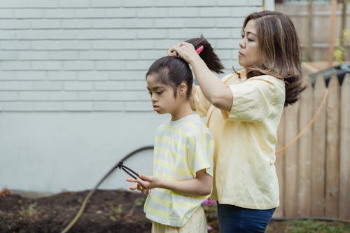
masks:
POLYGON ((153 111, 160 114, 173 114, 176 111, 178 101, 174 97, 174 89, 171 85, 160 83, 158 78, 155 78, 153 75, 148 75, 147 89, 151 95, 153 111))

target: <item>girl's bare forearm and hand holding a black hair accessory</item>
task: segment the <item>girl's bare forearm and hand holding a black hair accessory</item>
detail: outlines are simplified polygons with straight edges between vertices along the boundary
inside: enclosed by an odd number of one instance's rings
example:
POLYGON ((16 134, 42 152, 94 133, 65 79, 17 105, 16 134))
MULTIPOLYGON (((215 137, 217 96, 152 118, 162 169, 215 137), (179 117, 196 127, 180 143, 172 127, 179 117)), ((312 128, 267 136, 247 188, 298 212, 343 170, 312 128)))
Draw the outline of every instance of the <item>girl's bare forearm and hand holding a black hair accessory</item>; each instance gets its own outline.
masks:
MULTIPOLYGON (((132 179, 127 179, 127 181, 132 182, 132 179)), ((133 181, 135 180, 133 179, 133 181)), ((132 186, 134 189, 130 189, 135 190, 137 188, 141 192, 144 192, 145 190, 151 190, 153 188, 165 188, 167 190, 178 192, 181 195, 204 196, 211 194, 213 177, 207 174, 205 169, 202 169, 197 171, 196 178, 186 181, 165 181, 155 176, 139 174, 137 183, 141 185, 141 188, 134 185, 132 186)))

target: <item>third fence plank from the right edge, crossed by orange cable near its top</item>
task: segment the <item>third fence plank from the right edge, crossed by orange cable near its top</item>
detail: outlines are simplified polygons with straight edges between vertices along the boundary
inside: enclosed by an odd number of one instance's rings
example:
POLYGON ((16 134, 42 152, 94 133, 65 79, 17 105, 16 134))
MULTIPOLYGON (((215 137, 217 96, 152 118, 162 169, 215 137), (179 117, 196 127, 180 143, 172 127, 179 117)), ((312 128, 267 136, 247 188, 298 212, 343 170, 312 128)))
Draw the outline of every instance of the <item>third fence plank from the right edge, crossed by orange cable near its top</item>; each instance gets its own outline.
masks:
MULTIPOLYGON (((318 76, 314 88, 314 113, 325 94, 325 81, 318 76)), ((311 216, 324 217, 325 208, 325 108, 314 122, 312 135, 311 216)))

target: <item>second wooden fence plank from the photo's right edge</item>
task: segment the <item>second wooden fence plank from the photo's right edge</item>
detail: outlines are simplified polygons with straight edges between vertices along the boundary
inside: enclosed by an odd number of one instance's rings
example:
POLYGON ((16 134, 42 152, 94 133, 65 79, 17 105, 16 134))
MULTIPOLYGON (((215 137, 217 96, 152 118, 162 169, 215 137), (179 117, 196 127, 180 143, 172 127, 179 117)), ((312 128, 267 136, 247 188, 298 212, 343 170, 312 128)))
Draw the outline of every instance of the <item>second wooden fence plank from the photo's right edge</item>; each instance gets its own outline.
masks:
POLYGON ((339 217, 339 105, 337 76, 328 84, 327 139, 325 162, 325 217, 339 217))

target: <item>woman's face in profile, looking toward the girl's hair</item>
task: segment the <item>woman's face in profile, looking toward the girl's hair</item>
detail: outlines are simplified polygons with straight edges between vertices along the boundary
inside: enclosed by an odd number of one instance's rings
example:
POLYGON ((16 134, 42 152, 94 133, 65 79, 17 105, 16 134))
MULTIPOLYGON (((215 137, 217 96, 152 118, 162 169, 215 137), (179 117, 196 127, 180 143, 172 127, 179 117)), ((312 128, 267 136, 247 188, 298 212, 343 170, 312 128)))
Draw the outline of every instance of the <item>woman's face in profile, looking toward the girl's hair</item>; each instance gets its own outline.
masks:
POLYGON ((247 69, 249 66, 260 64, 260 52, 255 20, 249 20, 244 27, 239 42, 238 62, 247 69))

